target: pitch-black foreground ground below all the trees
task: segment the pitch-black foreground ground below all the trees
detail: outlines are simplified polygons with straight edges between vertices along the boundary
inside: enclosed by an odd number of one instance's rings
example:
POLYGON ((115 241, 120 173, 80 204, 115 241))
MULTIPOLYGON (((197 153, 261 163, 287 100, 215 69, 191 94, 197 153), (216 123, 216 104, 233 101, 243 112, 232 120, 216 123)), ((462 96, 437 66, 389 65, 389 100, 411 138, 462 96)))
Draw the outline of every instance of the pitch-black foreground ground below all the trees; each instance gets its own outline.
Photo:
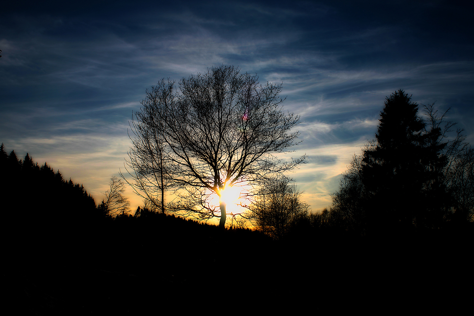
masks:
POLYGON ((473 235, 456 230, 274 242, 174 217, 48 228, 4 239, 15 314, 461 312, 473 297, 473 235))

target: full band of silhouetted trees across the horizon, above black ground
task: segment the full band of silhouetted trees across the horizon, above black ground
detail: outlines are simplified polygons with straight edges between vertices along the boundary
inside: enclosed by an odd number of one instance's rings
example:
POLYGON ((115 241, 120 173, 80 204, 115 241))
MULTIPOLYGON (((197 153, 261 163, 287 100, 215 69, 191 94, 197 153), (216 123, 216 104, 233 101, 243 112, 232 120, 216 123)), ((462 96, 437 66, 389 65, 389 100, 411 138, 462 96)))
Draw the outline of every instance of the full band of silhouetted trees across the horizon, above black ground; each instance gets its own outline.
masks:
POLYGON ((275 239, 304 229, 365 235, 472 223, 474 159, 463 130, 454 131, 456 123, 447 121, 447 111, 438 114, 434 104, 419 116, 418 104, 403 90, 386 98, 376 139, 354 156, 332 205, 311 213, 286 175, 305 163, 306 155, 278 155, 298 144, 299 133, 290 130, 300 122, 284 113, 280 91, 281 85, 260 85, 257 76, 224 65, 183 78, 178 88, 162 80, 146 92, 131 122, 126 162, 131 180, 112 177, 98 206, 82 185, 65 181, 46 163, 34 164, 28 154, 18 160, 2 144, 1 164, 12 184, 8 196, 22 200, 22 214, 30 218, 72 223, 87 214, 101 221, 131 216, 123 196, 128 183, 144 198, 135 217, 160 212, 218 218, 221 228, 252 227, 275 239), (20 187, 28 194, 15 189, 20 187), (231 188, 242 188, 243 211, 237 214, 227 210, 233 201, 225 200, 225 193, 231 188), (170 193, 175 199, 165 203, 170 193), (219 203, 210 203, 212 194, 219 203))

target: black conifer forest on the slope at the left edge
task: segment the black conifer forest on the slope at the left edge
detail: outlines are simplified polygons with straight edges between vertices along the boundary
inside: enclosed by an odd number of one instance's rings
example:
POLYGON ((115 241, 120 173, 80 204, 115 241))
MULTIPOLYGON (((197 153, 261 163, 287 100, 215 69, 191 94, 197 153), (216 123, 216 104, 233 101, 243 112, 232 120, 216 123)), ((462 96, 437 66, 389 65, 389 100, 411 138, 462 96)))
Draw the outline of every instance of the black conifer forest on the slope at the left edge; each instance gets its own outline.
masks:
POLYGON ((4 203, 11 208, 9 216, 33 223, 40 217, 71 222, 81 214, 100 215, 94 199, 82 185, 65 180, 59 170, 55 172, 47 163, 34 163, 28 153, 24 159, 18 159, 14 150, 8 154, 1 144, 0 168, 4 203))

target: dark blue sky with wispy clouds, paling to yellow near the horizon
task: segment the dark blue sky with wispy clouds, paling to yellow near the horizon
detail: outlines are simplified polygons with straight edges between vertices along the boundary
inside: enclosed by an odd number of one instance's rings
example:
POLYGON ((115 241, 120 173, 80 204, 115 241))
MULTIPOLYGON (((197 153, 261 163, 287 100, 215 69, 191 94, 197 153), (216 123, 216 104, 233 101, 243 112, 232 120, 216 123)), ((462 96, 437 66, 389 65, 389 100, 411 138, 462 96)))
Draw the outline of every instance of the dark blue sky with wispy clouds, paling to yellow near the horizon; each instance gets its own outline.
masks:
POLYGON ((0 142, 100 202, 124 170, 147 88, 239 66, 283 82, 284 109, 301 116, 291 156, 309 155, 290 176, 316 211, 375 138, 395 90, 451 108, 474 142, 474 8, 463 2, 10 1, 0 12, 0 142))

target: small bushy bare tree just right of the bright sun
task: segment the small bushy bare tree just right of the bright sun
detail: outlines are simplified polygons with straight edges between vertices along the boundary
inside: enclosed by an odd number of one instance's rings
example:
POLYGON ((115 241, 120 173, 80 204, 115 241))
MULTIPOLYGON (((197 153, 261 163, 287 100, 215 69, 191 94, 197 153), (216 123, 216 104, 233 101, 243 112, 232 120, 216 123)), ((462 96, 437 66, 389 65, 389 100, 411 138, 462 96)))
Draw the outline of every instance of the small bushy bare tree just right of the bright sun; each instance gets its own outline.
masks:
POLYGON ((251 206, 255 227, 275 239, 283 237, 301 217, 308 215, 309 205, 300 200, 301 194, 291 179, 268 181, 251 206))

